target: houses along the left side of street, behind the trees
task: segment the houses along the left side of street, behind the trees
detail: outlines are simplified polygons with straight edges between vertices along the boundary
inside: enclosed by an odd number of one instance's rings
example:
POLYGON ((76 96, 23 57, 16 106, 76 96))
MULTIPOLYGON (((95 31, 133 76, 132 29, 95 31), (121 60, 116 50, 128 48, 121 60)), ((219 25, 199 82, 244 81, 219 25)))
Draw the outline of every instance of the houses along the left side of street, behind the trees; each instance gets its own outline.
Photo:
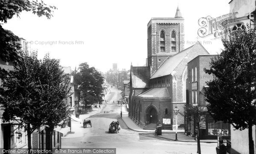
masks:
MULTIPOLYGON (((19 41, 22 46, 23 51, 28 51, 28 42, 20 38, 19 41)), ((13 70, 12 63, 0 61, 0 67, 4 68, 7 71, 13 70)), ((69 96, 64 100, 67 105, 70 107, 71 111, 73 111, 73 106, 75 105, 75 97, 74 97, 74 80, 71 75, 71 67, 63 67, 64 73, 69 74, 70 76, 70 87, 71 90, 69 92, 69 96)), ((2 81, 0 79, 0 86, 2 85, 2 81)), ((2 117, 3 110, 0 110, 0 116, 2 117)), ((49 132, 47 127, 41 127, 39 130, 35 130, 31 135, 32 148, 47 148, 47 149, 55 149, 61 148, 61 137, 65 136, 70 132, 70 119, 65 119, 68 122, 68 126, 65 128, 57 127, 54 129, 52 133, 49 132)), ((19 148, 27 148, 27 133, 24 131, 24 127, 17 122, 5 122, 3 123, 2 118, 0 119, 0 148, 3 149, 19 149, 19 148), (21 137, 18 137, 20 133, 21 137)))

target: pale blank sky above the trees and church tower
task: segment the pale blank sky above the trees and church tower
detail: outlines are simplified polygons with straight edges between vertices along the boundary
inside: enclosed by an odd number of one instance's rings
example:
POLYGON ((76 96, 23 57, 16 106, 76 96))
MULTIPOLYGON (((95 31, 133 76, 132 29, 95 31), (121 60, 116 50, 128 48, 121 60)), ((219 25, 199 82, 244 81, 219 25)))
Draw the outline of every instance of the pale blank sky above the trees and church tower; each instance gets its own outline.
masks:
POLYGON ((41 59, 49 52, 61 66, 74 70, 87 62, 106 72, 145 65, 147 24, 151 17, 175 17, 177 6, 185 20, 185 48, 197 40, 210 54, 220 53, 221 39, 198 37, 198 20, 229 13, 230 0, 44 0, 56 6, 52 19, 22 12, 3 24, 29 41, 41 59), (46 44, 47 43, 47 44, 46 44))

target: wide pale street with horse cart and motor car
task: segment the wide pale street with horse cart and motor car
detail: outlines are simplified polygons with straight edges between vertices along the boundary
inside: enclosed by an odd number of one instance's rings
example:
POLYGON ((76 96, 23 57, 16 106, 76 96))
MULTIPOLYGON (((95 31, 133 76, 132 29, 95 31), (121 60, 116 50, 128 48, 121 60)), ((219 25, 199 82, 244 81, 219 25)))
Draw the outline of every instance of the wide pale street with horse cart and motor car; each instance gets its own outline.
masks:
MULTIPOLYGON (((103 103, 101 112, 87 119, 91 120, 92 128, 90 126, 83 128, 83 137, 62 139, 61 147, 116 148, 117 154, 196 153, 197 143, 165 140, 155 137, 153 133, 137 132, 129 129, 120 118, 120 106, 117 104, 120 97, 120 91, 114 87, 111 88, 105 97, 106 100, 109 100, 109 104, 103 103), (113 104, 113 100, 115 100, 115 104, 113 104), (116 120, 120 122, 121 130, 118 134, 108 133, 110 123, 116 120)), ((80 124, 80 127, 83 127, 82 124, 80 124)), ((73 131, 76 131, 76 128, 73 127, 73 131)), ((215 147, 216 143, 201 143, 202 154, 216 154, 215 147)))

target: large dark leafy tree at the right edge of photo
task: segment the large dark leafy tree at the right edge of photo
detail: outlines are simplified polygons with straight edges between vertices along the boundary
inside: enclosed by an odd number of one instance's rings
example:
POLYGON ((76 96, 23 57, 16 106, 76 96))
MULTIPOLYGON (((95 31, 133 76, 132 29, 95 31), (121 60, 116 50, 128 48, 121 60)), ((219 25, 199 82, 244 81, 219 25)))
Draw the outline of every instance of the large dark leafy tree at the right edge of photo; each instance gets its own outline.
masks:
POLYGON ((248 128, 249 151, 254 154, 252 126, 256 124, 256 34, 255 30, 230 31, 229 39, 222 38, 224 50, 212 59, 213 80, 207 82, 205 96, 209 114, 215 121, 231 123, 240 131, 248 128))

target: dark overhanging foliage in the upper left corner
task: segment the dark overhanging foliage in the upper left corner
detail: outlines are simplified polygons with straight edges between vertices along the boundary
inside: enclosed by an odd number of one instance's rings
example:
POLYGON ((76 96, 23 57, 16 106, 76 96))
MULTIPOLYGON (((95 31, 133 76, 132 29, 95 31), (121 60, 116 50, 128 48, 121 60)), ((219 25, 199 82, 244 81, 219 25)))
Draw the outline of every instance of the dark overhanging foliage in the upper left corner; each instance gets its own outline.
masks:
MULTIPOLYGON (((32 11, 38 17, 46 16, 48 19, 52 17, 55 6, 47 6, 43 1, 29 1, 29 0, 0 0, 0 21, 7 23, 7 20, 12 19, 13 16, 19 17, 22 11, 32 11)), ((17 43, 19 37, 3 29, 0 24, 0 60, 17 64, 20 60, 20 44, 17 43)), ((0 78, 6 77, 8 72, 0 67, 0 78)))

